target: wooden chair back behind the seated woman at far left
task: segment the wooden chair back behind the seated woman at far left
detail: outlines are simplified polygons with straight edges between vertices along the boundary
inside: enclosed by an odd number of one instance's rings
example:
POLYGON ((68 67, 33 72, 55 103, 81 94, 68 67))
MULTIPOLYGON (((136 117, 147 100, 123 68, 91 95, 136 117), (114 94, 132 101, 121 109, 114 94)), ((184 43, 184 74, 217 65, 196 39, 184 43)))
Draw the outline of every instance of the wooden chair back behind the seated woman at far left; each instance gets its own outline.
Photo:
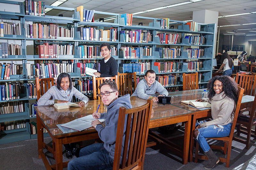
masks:
POLYGON ((37 94, 37 101, 40 99, 41 96, 44 95, 51 86, 55 85, 57 78, 36 78, 36 94, 37 94))

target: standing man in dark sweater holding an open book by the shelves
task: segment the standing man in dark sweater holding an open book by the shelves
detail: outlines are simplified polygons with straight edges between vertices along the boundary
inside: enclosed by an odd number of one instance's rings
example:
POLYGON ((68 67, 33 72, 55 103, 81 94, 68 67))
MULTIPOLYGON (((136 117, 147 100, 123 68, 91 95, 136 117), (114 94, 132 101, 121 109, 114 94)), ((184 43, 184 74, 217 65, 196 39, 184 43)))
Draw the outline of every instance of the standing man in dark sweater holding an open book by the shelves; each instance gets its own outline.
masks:
POLYGON ((98 77, 114 77, 117 75, 118 64, 111 54, 111 47, 108 43, 103 43, 100 45, 100 54, 103 59, 100 60, 100 73, 95 72, 98 77))

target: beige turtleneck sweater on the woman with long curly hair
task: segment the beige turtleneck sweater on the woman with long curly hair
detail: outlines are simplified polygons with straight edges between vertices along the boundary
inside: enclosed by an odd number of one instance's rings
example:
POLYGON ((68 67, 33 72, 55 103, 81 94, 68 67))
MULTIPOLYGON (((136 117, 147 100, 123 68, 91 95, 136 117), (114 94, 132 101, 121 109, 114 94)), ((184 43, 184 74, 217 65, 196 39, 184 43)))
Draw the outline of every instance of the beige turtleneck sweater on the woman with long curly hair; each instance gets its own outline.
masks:
POLYGON ((234 119, 236 103, 233 99, 226 96, 225 92, 215 94, 212 101, 206 99, 212 105, 212 121, 204 122, 201 127, 210 125, 227 125, 234 119))

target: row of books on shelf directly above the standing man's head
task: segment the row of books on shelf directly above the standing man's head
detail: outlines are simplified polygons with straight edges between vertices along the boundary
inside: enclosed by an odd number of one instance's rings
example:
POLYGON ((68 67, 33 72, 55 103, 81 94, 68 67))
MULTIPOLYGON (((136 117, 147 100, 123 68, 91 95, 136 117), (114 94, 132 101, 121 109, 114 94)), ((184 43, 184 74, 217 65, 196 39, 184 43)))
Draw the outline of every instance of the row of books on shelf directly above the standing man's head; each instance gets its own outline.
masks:
POLYGON ((86 41, 116 41, 117 29, 110 28, 108 30, 96 29, 93 27, 78 27, 77 31, 80 32, 81 40, 86 41))

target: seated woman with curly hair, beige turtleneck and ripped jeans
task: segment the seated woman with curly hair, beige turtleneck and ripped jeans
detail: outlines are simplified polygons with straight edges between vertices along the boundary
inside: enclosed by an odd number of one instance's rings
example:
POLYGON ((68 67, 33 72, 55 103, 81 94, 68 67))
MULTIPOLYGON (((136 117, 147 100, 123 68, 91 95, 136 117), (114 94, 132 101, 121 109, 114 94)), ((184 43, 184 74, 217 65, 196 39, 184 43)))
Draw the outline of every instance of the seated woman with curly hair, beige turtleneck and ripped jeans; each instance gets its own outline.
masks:
POLYGON ((208 157, 206 169, 212 169, 220 160, 212 152, 205 138, 226 137, 230 134, 237 97, 237 84, 234 79, 228 76, 215 76, 207 84, 208 99, 198 99, 212 105, 212 119, 196 123, 196 130, 193 136, 208 157))

